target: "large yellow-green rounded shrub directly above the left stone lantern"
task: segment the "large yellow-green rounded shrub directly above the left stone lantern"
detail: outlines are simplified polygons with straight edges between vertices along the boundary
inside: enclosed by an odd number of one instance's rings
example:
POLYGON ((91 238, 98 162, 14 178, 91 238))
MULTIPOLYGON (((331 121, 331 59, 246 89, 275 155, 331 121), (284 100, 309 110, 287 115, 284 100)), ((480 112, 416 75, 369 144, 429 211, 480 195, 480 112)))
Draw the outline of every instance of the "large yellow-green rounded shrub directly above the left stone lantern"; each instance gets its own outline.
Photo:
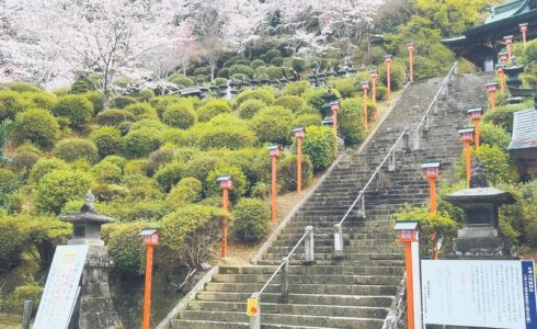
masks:
POLYGON ((82 200, 92 183, 88 173, 53 170, 37 183, 35 205, 41 212, 59 214, 67 202, 82 200))

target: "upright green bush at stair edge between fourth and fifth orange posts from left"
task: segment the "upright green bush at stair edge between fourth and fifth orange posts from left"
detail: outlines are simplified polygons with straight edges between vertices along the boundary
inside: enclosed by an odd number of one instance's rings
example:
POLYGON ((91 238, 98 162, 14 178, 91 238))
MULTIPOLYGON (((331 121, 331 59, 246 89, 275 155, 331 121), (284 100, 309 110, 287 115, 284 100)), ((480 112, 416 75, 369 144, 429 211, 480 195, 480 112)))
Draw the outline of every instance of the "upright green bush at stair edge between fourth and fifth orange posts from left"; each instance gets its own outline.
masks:
POLYGON ((309 126, 306 128, 307 138, 302 141, 302 152, 311 159, 313 171, 330 167, 338 156, 338 144, 331 127, 309 126))

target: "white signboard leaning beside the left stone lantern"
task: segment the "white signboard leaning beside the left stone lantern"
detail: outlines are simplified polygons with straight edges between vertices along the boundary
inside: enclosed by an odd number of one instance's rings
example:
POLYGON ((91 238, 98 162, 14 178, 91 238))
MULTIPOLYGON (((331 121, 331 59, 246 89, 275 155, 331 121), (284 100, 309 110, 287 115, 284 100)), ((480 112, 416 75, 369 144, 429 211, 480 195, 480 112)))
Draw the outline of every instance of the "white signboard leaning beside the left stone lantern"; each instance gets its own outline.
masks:
POLYGON ((56 248, 34 329, 64 329, 69 326, 87 256, 88 246, 56 248))

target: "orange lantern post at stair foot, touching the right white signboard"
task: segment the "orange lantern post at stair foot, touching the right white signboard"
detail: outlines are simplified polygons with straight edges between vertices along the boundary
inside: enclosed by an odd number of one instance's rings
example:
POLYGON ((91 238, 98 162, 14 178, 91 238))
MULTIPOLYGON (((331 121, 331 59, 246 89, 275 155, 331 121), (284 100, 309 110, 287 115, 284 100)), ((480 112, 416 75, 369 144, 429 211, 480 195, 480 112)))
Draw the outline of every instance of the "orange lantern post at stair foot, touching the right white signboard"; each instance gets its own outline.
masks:
MULTIPOLYGON (((404 266, 407 271, 407 328, 419 329, 420 321, 418 321, 416 327, 414 318, 414 307, 420 307, 420 305, 414 305, 414 298, 418 299, 419 296, 414 296, 412 242, 419 241, 420 224, 418 220, 396 220, 395 229, 398 232, 398 241, 404 243, 404 266)), ((419 263, 419 260, 416 261, 419 263)), ((416 277, 416 284, 419 284, 419 282, 420 277, 416 277)), ((418 314, 420 313, 418 311, 418 314)))

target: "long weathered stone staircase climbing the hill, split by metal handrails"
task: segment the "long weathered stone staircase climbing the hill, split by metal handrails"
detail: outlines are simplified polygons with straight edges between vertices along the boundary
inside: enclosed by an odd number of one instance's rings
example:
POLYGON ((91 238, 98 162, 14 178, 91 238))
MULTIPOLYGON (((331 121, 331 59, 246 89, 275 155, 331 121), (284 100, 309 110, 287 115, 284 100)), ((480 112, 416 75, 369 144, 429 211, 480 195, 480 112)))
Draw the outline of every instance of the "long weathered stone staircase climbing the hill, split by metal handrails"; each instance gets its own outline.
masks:
MULTIPOLYGON (((466 110, 487 103, 488 75, 458 77, 419 150, 396 152, 396 170, 382 168, 379 184, 366 192, 366 216, 352 212, 343 226, 344 258, 333 259, 334 224, 341 220, 375 168, 407 126, 413 129, 442 79, 407 88, 361 154, 342 159, 304 203, 255 265, 220 266, 196 298, 171 320, 171 328, 249 328, 247 299, 258 292, 300 239, 315 230, 316 262, 304 265, 298 247, 289 265, 289 298, 281 300, 281 275, 261 296, 262 328, 381 328, 404 272, 401 248, 395 242, 391 215, 404 204, 421 205, 429 185, 424 160, 441 160, 449 171, 462 149, 456 127, 466 110)), ((441 173, 442 174, 442 173, 441 173)))

